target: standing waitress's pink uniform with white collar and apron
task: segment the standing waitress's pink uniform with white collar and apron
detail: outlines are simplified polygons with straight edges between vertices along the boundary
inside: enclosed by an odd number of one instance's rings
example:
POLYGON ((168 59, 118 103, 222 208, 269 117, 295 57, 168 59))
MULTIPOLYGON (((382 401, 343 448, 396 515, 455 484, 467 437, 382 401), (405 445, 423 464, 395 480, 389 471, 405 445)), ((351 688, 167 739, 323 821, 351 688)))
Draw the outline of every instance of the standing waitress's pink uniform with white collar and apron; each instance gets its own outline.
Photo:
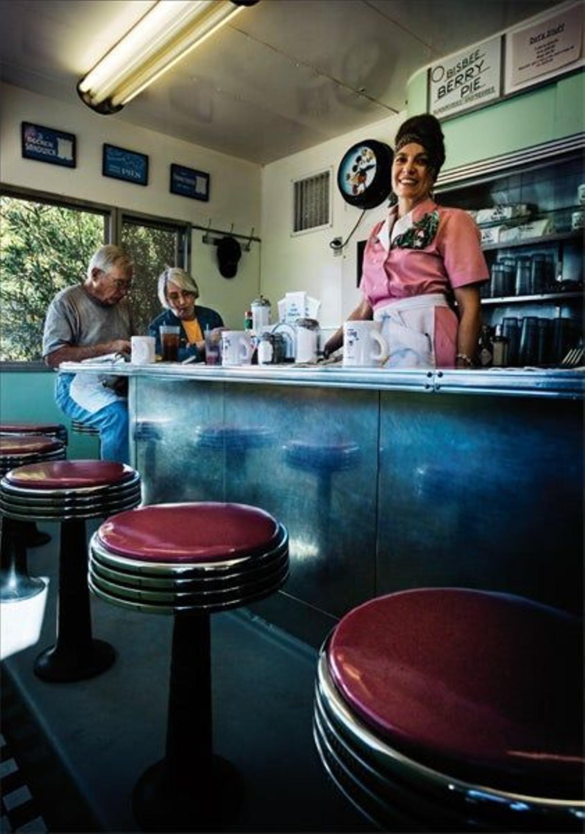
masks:
POLYGON ((453 367, 458 317, 447 297, 488 278, 479 229, 463 209, 430 198, 407 218, 397 220, 393 209, 370 234, 360 283, 374 319, 383 321, 386 367, 453 367))

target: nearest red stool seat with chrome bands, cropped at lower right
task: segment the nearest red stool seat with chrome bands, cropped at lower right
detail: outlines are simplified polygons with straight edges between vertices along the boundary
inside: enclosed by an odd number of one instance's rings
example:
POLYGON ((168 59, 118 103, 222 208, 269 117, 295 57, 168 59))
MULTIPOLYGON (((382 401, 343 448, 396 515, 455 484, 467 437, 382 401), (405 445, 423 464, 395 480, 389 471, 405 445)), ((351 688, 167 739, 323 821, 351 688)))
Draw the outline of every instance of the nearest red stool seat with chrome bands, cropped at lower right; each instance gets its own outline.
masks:
POLYGON ((456 588, 371 600, 321 651, 313 731, 378 826, 582 831, 582 624, 456 588))

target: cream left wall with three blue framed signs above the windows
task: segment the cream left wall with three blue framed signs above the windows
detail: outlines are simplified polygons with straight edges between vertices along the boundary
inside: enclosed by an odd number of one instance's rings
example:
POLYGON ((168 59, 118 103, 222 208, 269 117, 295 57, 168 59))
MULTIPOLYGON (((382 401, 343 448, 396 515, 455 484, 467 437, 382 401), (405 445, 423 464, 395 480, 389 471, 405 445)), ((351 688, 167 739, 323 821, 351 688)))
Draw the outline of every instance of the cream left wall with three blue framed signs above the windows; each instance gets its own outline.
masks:
MULTIPOLYGON (((93 113, 81 101, 64 103, 2 84, 0 128, 2 183, 35 188, 60 196, 87 199, 158 217, 188 220, 227 232, 260 236, 261 168, 255 163, 216 153, 179 139, 93 113), (77 168, 63 168, 23 159, 20 123, 28 121, 59 128, 77 136, 77 168), (102 177, 102 143, 147 153, 148 186, 102 177), (203 203, 169 192, 171 163, 210 174, 210 199, 203 203)), ((192 272, 201 303, 218 309, 226 323, 243 326, 243 314, 260 286, 260 244, 243 253, 238 274, 224 279, 217 268, 216 247, 202 243, 193 232, 192 272)), ((153 276, 155 277, 155 276, 153 276)))

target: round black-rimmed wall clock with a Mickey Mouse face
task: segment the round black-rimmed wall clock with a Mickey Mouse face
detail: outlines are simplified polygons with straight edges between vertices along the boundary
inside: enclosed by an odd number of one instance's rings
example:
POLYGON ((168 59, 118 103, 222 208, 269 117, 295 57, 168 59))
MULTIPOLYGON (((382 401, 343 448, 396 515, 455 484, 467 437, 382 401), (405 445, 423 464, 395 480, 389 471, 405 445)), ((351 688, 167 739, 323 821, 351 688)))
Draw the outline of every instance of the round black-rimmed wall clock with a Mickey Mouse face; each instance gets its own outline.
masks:
POLYGON ((393 150, 376 139, 349 148, 338 168, 343 199, 358 208, 373 208, 388 198, 392 188, 393 150))

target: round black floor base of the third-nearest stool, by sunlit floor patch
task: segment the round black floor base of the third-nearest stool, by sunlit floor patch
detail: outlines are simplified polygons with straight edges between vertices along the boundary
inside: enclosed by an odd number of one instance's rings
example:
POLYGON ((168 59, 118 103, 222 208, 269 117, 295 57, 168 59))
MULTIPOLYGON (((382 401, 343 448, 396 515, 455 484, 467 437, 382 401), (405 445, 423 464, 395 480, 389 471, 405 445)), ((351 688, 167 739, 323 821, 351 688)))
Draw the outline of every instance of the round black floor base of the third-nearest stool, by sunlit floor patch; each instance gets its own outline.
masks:
POLYGON ((34 673, 49 683, 85 681, 101 675, 115 660, 113 646, 103 640, 92 640, 77 651, 52 646, 37 657, 34 673))

